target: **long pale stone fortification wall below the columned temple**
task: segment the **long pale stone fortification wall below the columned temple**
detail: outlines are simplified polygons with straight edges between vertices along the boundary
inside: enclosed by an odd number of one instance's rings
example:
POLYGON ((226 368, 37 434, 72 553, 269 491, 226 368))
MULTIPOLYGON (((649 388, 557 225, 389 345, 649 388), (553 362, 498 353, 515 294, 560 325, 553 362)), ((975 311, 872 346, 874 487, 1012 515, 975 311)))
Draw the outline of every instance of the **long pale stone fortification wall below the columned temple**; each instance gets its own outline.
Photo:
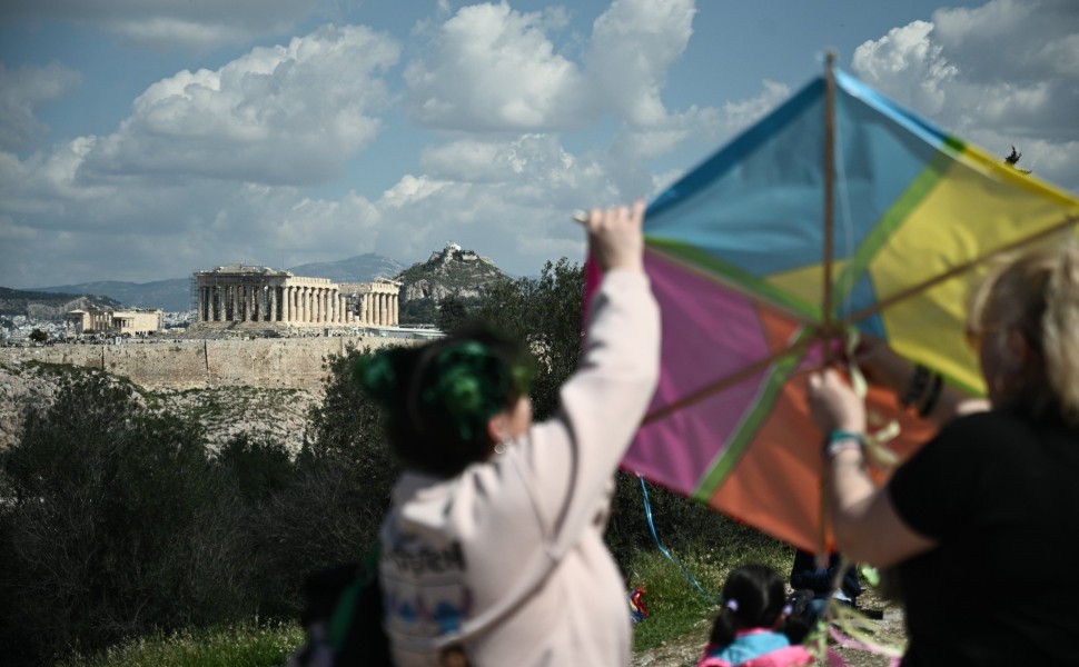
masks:
POLYGON ((246 386, 320 390, 323 361, 348 346, 412 345, 399 338, 256 338, 122 345, 0 348, 0 361, 43 361, 100 368, 148 389, 246 386))

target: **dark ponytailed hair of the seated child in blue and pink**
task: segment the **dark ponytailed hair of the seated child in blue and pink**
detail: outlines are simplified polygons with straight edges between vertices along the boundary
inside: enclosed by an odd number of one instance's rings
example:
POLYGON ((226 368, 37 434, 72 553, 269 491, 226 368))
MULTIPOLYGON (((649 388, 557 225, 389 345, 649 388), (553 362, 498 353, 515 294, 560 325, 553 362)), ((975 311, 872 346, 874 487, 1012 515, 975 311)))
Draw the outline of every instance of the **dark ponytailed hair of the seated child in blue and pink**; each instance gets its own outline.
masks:
POLYGON ((720 604, 709 641, 725 647, 739 630, 775 628, 786 606, 786 588, 771 567, 743 565, 727 576, 720 604))

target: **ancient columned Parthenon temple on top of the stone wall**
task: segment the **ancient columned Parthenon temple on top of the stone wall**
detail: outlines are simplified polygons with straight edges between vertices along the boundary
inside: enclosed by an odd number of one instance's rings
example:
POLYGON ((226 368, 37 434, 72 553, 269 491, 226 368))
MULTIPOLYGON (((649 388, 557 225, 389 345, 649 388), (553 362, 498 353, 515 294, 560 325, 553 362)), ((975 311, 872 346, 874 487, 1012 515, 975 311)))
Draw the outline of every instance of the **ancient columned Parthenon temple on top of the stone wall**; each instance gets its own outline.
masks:
POLYGON ((398 291, 393 280, 337 285, 246 265, 195 273, 197 321, 206 325, 396 327, 398 291))

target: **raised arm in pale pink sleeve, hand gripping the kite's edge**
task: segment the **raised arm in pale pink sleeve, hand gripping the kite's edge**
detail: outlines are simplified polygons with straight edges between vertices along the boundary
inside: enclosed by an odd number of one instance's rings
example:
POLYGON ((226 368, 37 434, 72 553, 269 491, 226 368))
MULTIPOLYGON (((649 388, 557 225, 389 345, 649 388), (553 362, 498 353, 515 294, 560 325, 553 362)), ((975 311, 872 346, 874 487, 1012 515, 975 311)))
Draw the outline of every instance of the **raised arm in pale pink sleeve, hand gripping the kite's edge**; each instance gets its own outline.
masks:
POLYGON ((644 205, 590 212, 585 227, 604 276, 586 316, 580 365, 561 409, 533 427, 534 496, 554 534, 592 520, 659 377, 659 307, 643 269, 644 205))

